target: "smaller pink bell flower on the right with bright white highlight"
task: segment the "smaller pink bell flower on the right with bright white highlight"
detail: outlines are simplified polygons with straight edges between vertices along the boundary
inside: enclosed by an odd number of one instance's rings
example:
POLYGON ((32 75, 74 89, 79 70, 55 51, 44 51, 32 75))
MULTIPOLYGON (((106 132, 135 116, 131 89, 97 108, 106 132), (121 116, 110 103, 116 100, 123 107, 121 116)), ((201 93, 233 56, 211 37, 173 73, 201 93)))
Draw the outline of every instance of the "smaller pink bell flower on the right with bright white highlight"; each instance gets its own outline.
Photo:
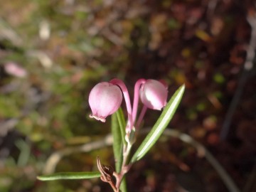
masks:
POLYGON ((158 80, 146 80, 139 90, 142 103, 151 110, 161 110, 166 105, 168 90, 158 80))

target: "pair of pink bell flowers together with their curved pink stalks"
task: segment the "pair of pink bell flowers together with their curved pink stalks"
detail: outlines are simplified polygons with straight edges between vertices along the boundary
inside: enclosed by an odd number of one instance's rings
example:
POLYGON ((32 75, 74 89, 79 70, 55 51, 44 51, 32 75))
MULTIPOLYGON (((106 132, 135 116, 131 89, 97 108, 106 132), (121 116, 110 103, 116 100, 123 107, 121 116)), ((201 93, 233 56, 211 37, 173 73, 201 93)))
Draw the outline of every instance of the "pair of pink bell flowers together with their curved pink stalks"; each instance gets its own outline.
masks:
POLYGON ((135 125, 139 127, 146 109, 161 110, 166 105, 167 86, 158 80, 137 80, 134 86, 134 101, 131 105, 129 93, 124 82, 119 79, 110 82, 100 82, 92 88, 89 95, 89 105, 92 110, 90 117, 105 122, 105 118, 118 110, 122 103, 122 95, 127 106, 128 122, 127 132, 130 132, 135 125), (137 119, 139 98, 144 107, 137 119))

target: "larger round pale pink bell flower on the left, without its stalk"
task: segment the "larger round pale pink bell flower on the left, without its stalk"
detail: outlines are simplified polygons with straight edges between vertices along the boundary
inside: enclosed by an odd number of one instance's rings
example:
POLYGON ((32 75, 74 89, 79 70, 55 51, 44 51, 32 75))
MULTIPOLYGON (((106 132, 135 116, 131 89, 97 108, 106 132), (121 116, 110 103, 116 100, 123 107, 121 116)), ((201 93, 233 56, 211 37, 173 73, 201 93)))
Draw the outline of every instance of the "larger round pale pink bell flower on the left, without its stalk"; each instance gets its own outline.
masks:
POLYGON ((122 92, 119 87, 110 82, 100 82, 92 88, 89 95, 92 109, 90 117, 105 122, 105 118, 116 112, 121 103, 122 92))

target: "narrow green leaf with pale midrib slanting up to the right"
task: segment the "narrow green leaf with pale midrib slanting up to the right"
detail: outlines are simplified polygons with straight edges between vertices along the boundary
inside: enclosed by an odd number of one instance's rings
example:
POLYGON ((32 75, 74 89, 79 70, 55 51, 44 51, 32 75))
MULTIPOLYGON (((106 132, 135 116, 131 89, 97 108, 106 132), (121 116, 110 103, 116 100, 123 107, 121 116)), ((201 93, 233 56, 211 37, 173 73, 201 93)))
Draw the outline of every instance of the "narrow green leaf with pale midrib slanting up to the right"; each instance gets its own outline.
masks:
POLYGON ((182 85, 171 97, 171 100, 169 100, 166 107, 164 107, 164 111, 161 113, 159 119, 156 121, 156 124, 154 124, 154 127, 152 127, 149 134, 147 134, 146 138, 139 146, 134 156, 132 156, 132 163, 138 161, 139 159, 142 159, 146 152, 151 149, 151 147, 156 143, 161 134, 164 132, 164 129, 166 129, 167 125, 171 121, 171 118, 174 116, 174 112, 176 112, 178 104, 181 102, 181 97, 184 90, 185 85, 182 85))

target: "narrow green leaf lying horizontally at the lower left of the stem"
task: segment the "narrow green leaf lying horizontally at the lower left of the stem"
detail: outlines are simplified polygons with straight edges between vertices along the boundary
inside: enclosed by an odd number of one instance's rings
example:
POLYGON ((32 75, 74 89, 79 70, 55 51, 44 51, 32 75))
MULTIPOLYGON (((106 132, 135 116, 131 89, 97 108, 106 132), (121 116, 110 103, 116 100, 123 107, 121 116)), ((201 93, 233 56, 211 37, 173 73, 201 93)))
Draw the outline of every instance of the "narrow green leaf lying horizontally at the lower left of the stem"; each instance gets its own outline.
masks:
POLYGON ((99 171, 95 172, 60 172, 56 174, 50 174, 45 176, 38 176, 38 180, 41 181, 53 181, 60 179, 85 179, 85 178, 97 178, 101 174, 99 171))

